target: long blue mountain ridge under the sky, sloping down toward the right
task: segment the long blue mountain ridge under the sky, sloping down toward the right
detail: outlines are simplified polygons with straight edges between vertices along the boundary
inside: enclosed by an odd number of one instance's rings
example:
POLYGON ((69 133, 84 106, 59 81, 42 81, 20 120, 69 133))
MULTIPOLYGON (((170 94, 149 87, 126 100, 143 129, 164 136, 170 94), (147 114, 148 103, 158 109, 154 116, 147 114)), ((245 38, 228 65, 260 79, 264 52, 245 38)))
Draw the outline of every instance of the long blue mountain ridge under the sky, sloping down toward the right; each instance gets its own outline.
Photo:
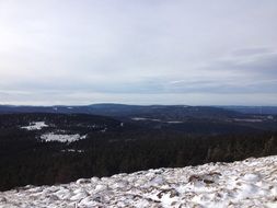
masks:
MULTIPOLYGON (((92 104, 92 105, 55 105, 55 106, 15 106, 0 105, 0 114, 9 113, 59 113, 59 114, 95 114, 105 116, 136 116, 152 114, 183 114, 186 116, 231 116, 235 112, 222 107, 188 106, 188 105, 125 105, 125 104, 92 104)), ((240 113, 236 113, 238 116, 240 113)))

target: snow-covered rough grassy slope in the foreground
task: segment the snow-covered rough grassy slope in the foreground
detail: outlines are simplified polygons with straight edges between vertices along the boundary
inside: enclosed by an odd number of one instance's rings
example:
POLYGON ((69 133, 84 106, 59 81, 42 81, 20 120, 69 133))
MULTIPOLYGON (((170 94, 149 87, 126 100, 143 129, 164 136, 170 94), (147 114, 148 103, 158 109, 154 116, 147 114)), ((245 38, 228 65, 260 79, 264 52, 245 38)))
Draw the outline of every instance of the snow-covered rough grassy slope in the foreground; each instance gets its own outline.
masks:
POLYGON ((0 193, 0 207, 277 207, 277 157, 0 193))

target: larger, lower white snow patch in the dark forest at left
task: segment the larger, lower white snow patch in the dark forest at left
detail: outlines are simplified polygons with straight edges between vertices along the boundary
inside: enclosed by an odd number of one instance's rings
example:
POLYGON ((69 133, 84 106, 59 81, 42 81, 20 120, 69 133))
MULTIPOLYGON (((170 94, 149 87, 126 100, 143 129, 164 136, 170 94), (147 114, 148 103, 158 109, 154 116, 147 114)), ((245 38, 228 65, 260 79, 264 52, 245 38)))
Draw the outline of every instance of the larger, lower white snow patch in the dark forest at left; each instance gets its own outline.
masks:
POLYGON ((59 141, 59 142, 73 142, 80 139, 85 139, 86 135, 80 136, 79 134, 76 135, 56 135, 54 132, 44 134, 41 136, 43 141, 59 141))

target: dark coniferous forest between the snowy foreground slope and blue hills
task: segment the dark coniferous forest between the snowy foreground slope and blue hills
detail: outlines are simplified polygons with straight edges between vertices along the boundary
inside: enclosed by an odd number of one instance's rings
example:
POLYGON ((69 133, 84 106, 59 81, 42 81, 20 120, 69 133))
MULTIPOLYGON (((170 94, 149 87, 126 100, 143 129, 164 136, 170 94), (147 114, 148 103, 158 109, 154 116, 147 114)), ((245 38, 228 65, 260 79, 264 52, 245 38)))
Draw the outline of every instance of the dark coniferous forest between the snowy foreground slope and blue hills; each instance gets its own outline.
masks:
POLYGON ((183 127, 151 124, 84 114, 0 115, 0 189, 277 154, 275 129, 250 130, 228 123, 215 130, 210 122, 192 120, 183 127), (22 128, 38 120, 47 126, 22 128), (47 132, 86 137, 73 142, 42 140, 47 132))

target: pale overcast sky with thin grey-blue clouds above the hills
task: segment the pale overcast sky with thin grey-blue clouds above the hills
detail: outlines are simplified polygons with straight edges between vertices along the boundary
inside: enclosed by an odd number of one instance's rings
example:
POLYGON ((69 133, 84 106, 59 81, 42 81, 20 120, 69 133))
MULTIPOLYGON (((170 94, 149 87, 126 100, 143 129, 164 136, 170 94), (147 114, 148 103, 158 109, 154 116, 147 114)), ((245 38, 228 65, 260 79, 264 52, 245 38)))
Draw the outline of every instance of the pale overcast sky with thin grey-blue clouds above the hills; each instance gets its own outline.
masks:
POLYGON ((0 0, 0 104, 277 105, 276 0, 0 0))

